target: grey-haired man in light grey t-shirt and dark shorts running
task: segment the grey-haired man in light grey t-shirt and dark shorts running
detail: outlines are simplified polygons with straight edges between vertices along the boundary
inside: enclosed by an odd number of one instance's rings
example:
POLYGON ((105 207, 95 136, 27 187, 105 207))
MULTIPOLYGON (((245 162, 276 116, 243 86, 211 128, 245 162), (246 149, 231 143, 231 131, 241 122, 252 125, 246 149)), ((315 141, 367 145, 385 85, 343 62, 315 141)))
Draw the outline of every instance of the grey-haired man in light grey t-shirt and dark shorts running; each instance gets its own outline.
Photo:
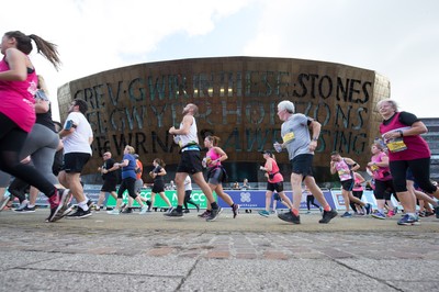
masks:
POLYGON ((317 199, 324 209, 323 218, 319 223, 328 223, 337 216, 337 212, 331 210, 325 200, 320 188, 318 188, 313 177, 314 150, 317 147, 320 134, 320 123, 301 113, 295 113, 294 103, 284 100, 278 104, 278 116, 283 122, 281 127, 282 144, 274 143, 277 151, 286 148, 289 159, 292 165, 291 186, 293 189, 293 209, 285 213, 280 213, 279 218, 294 224, 301 223, 299 209, 302 200, 302 181, 309 192, 317 199), (309 128, 313 137, 311 138, 309 128))

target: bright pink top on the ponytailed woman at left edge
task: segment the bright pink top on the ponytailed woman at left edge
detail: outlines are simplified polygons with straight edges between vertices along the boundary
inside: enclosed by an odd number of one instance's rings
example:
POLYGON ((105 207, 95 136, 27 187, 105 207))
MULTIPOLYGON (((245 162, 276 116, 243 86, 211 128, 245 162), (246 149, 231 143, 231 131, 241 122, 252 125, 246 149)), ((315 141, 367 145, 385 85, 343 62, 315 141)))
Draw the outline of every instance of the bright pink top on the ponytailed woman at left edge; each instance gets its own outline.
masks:
MULTIPOLYGON (((0 72, 8 71, 9 65, 3 58, 0 61, 0 72)), ((27 74, 25 81, 0 80, 0 112, 11 119, 25 132, 31 132, 35 124, 35 100, 37 90, 35 70, 27 74)))

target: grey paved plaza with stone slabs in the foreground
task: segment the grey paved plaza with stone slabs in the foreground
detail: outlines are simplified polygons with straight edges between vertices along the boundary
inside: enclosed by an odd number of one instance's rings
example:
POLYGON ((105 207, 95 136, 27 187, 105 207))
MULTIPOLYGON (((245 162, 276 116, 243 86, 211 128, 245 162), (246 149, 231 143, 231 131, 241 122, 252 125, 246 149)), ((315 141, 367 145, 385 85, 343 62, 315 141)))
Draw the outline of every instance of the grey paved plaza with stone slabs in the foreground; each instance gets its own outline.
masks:
POLYGON ((0 213, 0 291, 439 291, 439 220, 0 213))

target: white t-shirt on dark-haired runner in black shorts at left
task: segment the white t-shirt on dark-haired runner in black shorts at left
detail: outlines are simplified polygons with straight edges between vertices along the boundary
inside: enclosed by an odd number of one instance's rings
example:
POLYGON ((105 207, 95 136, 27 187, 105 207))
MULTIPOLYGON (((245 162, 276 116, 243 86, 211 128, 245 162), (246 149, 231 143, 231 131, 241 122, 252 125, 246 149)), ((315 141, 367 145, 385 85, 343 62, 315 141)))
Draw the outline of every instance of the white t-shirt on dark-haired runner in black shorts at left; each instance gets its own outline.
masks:
POLYGON ((63 138, 64 154, 88 153, 91 155, 92 151, 89 144, 89 138, 93 137, 93 132, 91 131, 89 121, 87 121, 86 116, 80 112, 69 113, 66 119, 66 123, 69 120, 74 121, 74 124, 77 125, 77 127, 75 128, 74 133, 63 138))

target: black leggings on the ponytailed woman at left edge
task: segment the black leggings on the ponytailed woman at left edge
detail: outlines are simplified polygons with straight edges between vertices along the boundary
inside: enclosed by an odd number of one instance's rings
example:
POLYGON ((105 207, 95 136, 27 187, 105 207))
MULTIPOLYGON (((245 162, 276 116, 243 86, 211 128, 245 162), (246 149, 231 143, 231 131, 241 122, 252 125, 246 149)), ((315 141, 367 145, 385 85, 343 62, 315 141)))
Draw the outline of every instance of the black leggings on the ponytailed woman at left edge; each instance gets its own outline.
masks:
POLYGON ((20 162, 20 151, 27 133, 12 120, 0 113, 0 169, 37 188, 47 196, 55 193, 55 187, 34 167, 20 162))

